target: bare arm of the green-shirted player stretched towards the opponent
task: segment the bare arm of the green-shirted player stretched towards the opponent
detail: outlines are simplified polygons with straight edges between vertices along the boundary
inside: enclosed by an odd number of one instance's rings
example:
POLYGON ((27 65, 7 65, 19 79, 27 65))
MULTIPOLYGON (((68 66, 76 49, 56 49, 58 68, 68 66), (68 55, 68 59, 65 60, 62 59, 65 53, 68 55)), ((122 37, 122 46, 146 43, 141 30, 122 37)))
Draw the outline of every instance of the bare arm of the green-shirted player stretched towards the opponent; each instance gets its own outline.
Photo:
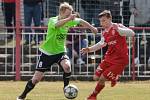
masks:
POLYGON ((87 21, 80 19, 80 25, 82 25, 83 27, 89 28, 92 33, 98 33, 98 30, 96 27, 92 26, 91 24, 89 24, 87 21))

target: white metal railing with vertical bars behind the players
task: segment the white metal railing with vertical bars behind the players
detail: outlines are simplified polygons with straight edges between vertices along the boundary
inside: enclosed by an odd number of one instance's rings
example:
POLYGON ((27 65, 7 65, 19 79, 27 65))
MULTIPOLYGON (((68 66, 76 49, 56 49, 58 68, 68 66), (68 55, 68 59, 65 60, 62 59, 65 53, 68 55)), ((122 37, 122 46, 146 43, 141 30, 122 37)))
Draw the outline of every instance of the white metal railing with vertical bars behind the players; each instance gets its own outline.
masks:
MULTIPOLYGON (((7 35, 13 35, 13 38, 11 40, 5 39, 1 40, 1 45, 0 45, 0 76, 1 77, 6 77, 6 76, 16 76, 16 55, 18 52, 16 52, 16 35, 14 33, 1 33, 3 36, 7 35)), ((42 36, 43 39, 45 38, 45 33, 22 33, 21 35, 21 42, 20 42, 20 51, 21 51, 21 56, 20 56, 20 75, 21 76, 32 76, 34 73, 34 68, 36 66, 36 62, 38 61, 39 57, 39 50, 38 46, 39 43, 38 37, 42 36), (29 38, 31 38, 31 35, 34 35, 36 38, 36 41, 29 41, 28 45, 25 45, 25 35, 29 35, 29 38)), ((92 77, 92 75, 95 72, 96 67, 98 66, 98 63, 101 61, 103 57, 103 50, 99 50, 97 52, 89 53, 85 55, 84 57, 78 52, 78 56, 75 56, 75 53, 73 50, 76 48, 81 49, 81 41, 83 39, 89 41, 89 37, 92 36, 91 44, 95 44, 95 42, 100 40, 100 34, 93 35, 92 33, 69 33, 68 34, 71 38, 71 46, 68 47, 68 49, 71 49, 71 63, 72 63, 72 76, 73 77, 92 77), (78 37, 77 37, 78 36, 78 37), (74 45, 74 39, 77 37, 78 39, 78 45, 74 45), (79 58, 82 58, 82 61, 79 58)), ((132 48, 133 48, 133 41, 132 38, 127 39, 128 43, 128 48, 129 48, 129 65, 126 67, 124 70, 123 74, 121 77, 129 77, 131 78, 133 74, 135 74, 135 77, 150 77, 150 66, 149 66, 149 51, 150 51, 150 46, 149 46, 149 40, 150 40, 150 34, 146 33, 145 30, 142 31, 142 34, 137 34, 136 35, 136 45, 137 49, 135 49, 135 53, 137 54, 137 62, 135 62, 135 67, 132 69, 132 48)), ((34 40, 34 39, 33 39, 34 40)), ((41 42, 40 42, 41 43, 41 42)), ((78 49, 78 50, 79 50, 78 49)), ((68 54, 69 55, 69 54, 68 54)), ((45 73, 45 76, 61 76, 62 70, 61 68, 57 65, 54 64, 49 72, 45 73)))

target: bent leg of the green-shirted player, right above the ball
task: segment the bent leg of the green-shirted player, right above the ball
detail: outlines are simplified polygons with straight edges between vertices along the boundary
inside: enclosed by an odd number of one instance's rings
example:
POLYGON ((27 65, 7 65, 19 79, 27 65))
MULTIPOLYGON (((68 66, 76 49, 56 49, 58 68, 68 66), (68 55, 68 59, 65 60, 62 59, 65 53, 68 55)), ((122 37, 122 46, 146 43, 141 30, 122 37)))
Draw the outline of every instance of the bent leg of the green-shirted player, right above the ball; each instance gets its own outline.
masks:
POLYGON ((61 58, 61 61, 59 64, 64 70, 63 81, 64 81, 64 87, 65 87, 69 84, 69 80, 71 77, 71 63, 70 63, 69 57, 67 55, 64 55, 61 58))

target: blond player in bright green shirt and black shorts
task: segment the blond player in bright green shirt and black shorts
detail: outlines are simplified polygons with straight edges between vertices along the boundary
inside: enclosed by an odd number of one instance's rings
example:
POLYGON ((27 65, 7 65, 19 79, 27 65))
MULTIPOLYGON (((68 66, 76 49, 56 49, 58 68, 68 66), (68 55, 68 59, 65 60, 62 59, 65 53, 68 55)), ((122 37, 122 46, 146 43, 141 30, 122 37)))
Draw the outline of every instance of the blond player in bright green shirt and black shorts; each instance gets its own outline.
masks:
POLYGON ((72 14, 73 8, 68 3, 60 4, 59 15, 49 19, 46 40, 41 44, 40 59, 36 66, 36 71, 31 80, 26 84, 22 94, 17 100, 24 100, 27 94, 42 79, 44 72, 48 71, 52 64, 58 63, 63 68, 64 87, 69 84, 71 76, 71 64, 66 55, 66 36, 69 28, 78 24, 89 28, 93 33, 97 33, 97 28, 90 25, 87 21, 76 18, 76 14, 72 14))

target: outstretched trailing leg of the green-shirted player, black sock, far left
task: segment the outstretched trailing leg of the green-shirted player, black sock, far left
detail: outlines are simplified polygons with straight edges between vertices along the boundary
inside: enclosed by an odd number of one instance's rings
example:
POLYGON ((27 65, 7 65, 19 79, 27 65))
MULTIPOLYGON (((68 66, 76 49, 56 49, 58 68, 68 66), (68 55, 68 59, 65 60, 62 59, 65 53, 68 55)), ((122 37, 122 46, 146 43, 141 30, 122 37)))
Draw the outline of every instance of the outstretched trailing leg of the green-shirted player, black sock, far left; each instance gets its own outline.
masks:
POLYGON ((42 79, 42 77, 43 72, 35 71, 34 76, 27 82, 25 89, 18 97, 18 100, 23 100, 27 96, 27 94, 35 87, 35 85, 42 79))

